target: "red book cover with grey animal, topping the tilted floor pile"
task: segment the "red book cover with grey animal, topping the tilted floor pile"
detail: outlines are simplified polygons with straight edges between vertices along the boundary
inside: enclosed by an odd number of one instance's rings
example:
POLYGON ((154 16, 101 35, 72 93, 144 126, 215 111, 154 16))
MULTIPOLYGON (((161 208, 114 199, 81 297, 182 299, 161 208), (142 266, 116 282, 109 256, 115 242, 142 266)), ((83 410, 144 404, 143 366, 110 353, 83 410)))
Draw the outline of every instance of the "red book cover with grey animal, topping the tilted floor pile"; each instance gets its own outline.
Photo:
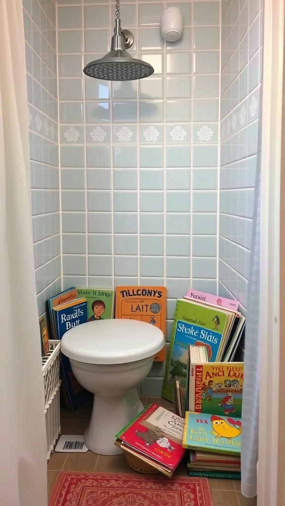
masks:
MULTIPOLYGON (((165 430, 162 432, 159 427, 153 430, 141 424, 141 421, 148 418, 158 408, 160 408, 158 404, 151 404, 137 420, 117 436, 142 455, 148 456, 169 469, 174 469, 185 454, 185 449, 181 444, 172 441, 170 436, 166 437, 165 430)), ((173 415, 176 416, 175 413, 173 415)))

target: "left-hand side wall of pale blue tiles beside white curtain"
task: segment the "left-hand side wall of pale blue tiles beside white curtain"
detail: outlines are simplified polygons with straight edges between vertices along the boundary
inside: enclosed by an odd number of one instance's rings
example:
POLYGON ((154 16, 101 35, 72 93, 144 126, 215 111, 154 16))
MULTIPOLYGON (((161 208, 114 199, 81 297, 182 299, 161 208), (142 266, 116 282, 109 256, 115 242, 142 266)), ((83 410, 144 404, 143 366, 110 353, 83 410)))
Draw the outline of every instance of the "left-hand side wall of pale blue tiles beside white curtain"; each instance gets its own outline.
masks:
POLYGON ((39 314, 61 288, 56 6, 23 0, 30 137, 32 225, 39 314))

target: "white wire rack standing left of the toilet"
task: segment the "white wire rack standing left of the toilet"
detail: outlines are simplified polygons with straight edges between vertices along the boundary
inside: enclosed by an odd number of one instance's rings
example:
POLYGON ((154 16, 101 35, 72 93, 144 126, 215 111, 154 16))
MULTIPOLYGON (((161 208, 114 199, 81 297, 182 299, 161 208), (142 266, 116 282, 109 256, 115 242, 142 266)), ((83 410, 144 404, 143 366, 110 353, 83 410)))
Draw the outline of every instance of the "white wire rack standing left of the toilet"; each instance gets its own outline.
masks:
POLYGON ((47 460, 50 459, 55 442, 60 434, 60 406, 59 406, 59 364, 60 341, 50 340, 49 351, 42 357, 44 386, 45 386, 45 417, 47 431, 47 460))

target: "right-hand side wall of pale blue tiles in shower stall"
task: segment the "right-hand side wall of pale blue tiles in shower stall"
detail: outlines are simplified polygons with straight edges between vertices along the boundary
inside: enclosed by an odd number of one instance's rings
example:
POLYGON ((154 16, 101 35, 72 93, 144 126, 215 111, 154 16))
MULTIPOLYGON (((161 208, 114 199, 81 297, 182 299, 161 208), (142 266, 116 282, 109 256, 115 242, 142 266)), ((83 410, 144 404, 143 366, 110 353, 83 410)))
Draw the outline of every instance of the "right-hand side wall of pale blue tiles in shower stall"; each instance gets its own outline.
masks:
POLYGON ((262 2, 222 0, 220 293, 246 310, 257 163, 262 2), (238 8, 239 7, 239 8, 238 8))

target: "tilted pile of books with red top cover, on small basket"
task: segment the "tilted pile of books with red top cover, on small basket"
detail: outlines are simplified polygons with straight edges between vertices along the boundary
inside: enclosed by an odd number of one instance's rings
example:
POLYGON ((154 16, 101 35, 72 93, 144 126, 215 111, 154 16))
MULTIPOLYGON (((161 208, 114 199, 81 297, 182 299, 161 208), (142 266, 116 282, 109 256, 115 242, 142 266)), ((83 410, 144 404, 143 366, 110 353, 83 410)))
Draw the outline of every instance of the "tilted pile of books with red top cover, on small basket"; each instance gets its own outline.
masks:
POLYGON ((116 434, 115 444, 171 476, 186 453, 183 427, 183 418, 153 403, 116 434))

